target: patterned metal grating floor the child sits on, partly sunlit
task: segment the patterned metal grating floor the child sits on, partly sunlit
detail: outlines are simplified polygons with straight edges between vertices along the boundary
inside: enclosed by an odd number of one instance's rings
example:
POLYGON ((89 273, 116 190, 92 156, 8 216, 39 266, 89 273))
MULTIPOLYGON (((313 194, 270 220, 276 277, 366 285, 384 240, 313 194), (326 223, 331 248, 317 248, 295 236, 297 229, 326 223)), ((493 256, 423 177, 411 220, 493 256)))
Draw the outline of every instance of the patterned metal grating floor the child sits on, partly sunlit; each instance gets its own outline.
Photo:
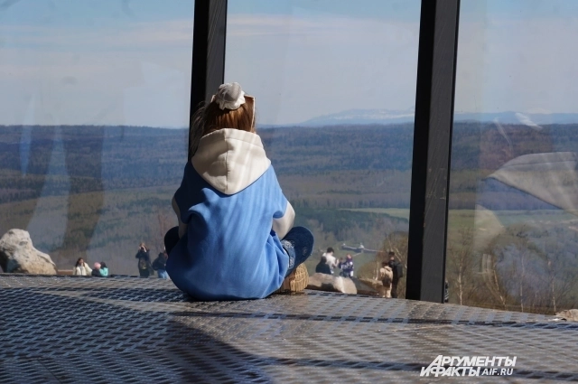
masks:
POLYGON ((202 303, 170 281, 0 275, 0 382, 578 381, 578 323, 307 291, 202 303), (437 355, 517 356, 511 376, 420 378, 437 355))

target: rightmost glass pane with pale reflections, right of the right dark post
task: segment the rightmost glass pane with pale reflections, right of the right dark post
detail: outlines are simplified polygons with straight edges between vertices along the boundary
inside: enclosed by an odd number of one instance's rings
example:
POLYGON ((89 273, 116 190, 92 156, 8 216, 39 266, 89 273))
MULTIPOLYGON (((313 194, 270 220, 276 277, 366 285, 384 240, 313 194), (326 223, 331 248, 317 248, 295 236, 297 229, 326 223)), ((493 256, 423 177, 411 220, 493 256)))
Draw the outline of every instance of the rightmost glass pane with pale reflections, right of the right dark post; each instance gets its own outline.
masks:
POLYGON ((457 304, 578 305, 573 1, 461 2, 446 276, 457 304))

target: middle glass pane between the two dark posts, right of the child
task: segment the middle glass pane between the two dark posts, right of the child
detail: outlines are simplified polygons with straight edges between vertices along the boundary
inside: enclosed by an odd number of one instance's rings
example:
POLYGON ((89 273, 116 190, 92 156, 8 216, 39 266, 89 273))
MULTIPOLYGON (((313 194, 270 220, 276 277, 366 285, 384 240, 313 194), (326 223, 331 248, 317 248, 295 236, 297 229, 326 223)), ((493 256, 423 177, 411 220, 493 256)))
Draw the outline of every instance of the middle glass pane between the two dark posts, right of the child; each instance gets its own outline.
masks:
POLYGON ((419 15, 417 0, 228 2, 225 80, 259 100, 295 224, 315 236, 310 274, 333 248, 335 276, 349 254, 382 295, 388 251, 406 266, 419 15))

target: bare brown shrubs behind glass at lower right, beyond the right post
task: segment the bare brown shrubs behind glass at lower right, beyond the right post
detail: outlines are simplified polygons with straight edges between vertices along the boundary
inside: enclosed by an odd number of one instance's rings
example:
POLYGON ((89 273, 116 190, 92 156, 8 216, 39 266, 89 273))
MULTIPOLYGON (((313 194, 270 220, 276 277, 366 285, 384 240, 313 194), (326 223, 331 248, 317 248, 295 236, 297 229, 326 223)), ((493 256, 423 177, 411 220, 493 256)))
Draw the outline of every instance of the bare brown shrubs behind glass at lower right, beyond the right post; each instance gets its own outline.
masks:
POLYGON ((479 242, 480 233, 468 227, 448 242, 452 303, 540 314, 578 305, 574 230, 530 222, 509 226, 483 248, 479 242))

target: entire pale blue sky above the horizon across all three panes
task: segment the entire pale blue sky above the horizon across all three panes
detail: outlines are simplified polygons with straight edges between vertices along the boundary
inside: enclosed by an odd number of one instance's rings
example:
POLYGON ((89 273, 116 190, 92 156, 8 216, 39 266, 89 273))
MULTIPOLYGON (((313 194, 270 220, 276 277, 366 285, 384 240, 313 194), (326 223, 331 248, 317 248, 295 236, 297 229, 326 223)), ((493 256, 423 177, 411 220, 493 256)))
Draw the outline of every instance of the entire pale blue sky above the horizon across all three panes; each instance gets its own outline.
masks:
MULTIPOLYGON (((0 0, 0 124, 188 126, 193 0, 0 0)), ((261 125, 411 111, 418 0, 228 0, 261 125)), ((578 113, 578 1, 461 0, 457 112, 578 113)))

